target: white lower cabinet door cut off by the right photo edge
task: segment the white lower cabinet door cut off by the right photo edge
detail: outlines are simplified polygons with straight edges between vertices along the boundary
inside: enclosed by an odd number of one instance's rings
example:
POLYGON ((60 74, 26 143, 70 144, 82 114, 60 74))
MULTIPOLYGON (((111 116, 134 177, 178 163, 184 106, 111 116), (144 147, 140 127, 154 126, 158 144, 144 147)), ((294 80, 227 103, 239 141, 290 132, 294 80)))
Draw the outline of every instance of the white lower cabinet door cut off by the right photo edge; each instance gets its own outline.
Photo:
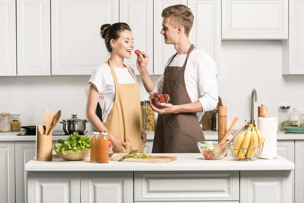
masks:
POLYGON ((295 203, 304 202, 304 140, 295 141, 295 203))

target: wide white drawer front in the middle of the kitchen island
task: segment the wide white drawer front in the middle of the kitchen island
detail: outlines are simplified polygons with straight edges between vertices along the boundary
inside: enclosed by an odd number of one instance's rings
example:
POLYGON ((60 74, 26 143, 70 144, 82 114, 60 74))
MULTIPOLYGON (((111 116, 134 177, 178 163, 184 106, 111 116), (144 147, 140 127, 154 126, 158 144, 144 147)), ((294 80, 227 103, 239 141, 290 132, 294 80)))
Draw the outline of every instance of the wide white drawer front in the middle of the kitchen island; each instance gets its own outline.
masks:
POLYGON ((238 200, 239 171, 134 172, 134 201, 238 200))

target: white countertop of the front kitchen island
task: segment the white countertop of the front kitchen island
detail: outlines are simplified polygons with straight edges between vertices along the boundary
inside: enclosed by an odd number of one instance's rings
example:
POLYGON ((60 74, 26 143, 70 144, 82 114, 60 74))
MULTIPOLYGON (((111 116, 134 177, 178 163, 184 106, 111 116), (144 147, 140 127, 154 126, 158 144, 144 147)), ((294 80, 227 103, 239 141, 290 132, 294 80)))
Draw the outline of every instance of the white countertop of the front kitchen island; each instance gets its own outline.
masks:
MULTIPOLYGON (((167 163, 142 163, 109 161, 91 163, 90 157, 82 161, 66 161, 53 158, 52 161, 30 160, 25 171, 284 171, 294 170, 294 163, 279 156, 278 159, 258 159, 238 161, 231 155, 221 160, 206 160, 202 154, 152 154, 176 156, 175 161, 167 163)), ((57 155, 54 155, 58 157, 57 155)))

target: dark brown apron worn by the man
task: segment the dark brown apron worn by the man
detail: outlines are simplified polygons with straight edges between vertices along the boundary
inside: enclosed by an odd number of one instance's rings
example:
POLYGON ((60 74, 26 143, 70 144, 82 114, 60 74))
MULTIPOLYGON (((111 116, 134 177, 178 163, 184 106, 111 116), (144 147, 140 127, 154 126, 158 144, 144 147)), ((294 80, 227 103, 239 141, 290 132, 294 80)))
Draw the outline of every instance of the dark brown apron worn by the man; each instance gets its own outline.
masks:
MULTIPOLYGON (((169 66, 177 53, 166 67, 162 93, 170 95, 172 105, 192 103, 184 73, 193 48, 191 45, 182 67, 169 66)), ((157 119, 152 153, 199 153, 197 142, 200 141, 205 141, 205 137, 196 113, 163 114, 157 119)))

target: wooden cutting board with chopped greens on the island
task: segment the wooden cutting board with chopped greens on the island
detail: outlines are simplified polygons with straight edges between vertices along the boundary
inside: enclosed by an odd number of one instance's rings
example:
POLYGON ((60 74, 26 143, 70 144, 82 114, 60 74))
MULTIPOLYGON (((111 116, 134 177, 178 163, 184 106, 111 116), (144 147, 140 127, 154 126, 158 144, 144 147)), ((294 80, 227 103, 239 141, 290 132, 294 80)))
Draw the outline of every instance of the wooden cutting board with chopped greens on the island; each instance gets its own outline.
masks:
MULTIPOLYGON (((123 155, 118 155, 118 156, 112 156, 110 158, 111 161, 118 161, 120 158, 125 156, 126 154, 123 155)), ((133 158, 129 157, 124 159, 123 161, 130 161, 130 162, 146 162, 146 163, 166 163, 170 161, 176 160, 176 156, 151 156, 148 158, 133 158)))

